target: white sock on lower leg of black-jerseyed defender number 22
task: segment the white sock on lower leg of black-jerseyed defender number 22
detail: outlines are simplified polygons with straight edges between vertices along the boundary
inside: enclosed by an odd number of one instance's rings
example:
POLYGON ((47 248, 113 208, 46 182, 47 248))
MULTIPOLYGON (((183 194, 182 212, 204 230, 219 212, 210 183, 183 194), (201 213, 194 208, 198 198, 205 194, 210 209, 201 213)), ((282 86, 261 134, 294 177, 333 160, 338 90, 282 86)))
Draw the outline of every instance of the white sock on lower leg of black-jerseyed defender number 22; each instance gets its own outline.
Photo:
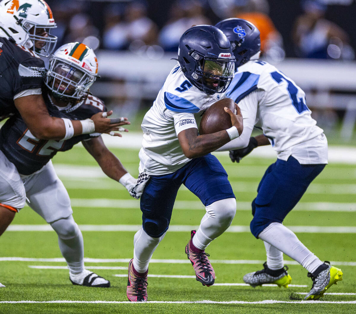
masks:
POLYGON ((84 270, 84 241, 82 231, 72 216, 51 223, 58 234, 59 250, 66 259, 69 272, 81 273, 84 270))

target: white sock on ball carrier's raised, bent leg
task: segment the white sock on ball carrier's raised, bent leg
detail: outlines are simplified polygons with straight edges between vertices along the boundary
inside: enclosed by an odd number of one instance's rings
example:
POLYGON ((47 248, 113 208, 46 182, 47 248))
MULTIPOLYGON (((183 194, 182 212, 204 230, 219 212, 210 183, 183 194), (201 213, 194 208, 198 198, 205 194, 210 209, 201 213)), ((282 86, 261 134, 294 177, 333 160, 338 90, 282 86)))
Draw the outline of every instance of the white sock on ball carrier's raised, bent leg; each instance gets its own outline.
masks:
POLYGON ((206 214, 193 237, 193 245, 200 250, 205 250, 211 241, 229 228, 236 213, 236 199, 221 199, 206 206, 205 210, 206 214))

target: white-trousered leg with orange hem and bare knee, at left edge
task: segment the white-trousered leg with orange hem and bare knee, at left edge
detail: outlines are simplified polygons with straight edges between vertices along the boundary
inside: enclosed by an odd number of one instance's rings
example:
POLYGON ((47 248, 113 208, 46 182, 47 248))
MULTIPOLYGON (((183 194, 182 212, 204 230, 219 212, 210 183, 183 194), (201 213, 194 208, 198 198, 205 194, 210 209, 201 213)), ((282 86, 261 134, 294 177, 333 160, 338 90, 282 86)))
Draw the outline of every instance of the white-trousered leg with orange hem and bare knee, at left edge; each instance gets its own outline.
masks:
POLYGON ((0 235, 26 203, 25 187, 13 163, 0 151, 0 235))

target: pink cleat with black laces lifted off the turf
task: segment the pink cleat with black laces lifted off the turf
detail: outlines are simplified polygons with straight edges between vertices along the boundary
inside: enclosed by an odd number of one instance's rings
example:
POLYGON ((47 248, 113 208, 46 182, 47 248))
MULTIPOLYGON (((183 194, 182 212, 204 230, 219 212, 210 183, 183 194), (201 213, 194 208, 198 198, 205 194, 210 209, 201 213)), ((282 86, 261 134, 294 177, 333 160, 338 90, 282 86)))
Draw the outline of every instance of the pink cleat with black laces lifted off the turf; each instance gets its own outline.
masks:
POLYGON ((188 259, 193 265, 195 271, 195 278, 197 281, 200 281, 203 286, 211 286, 215 281, 215 272, 213 266, 211 266, 208 256, 208 253, 205 253, 204 250, 201 252, 195 252, 192 250, 192 239, 195 234, 195 230, 192 230, 190 233, 190 240, 185 246, 185 254, 187 254, 188 259))

